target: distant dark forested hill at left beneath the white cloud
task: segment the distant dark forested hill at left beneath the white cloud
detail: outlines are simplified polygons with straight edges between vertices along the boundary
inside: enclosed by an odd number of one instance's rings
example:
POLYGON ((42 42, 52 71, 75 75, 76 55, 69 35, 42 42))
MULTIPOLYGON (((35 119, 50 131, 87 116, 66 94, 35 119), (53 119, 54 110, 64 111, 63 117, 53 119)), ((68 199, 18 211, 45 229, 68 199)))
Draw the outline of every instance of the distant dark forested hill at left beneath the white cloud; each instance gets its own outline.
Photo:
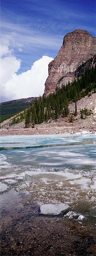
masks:
POLYGON ((12 100, 0 103, 1 122, 12 115, 26 109, 34 98, 21 98, 19 100, 12 100))

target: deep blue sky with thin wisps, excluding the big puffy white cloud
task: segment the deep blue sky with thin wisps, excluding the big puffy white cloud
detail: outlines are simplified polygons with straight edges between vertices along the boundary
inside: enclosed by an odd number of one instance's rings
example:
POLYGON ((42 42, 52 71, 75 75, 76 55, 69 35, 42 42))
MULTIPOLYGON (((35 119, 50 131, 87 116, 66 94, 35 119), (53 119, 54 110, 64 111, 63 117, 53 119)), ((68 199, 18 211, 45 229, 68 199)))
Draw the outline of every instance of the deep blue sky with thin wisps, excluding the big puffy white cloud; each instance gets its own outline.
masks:
POLYGON ((16 74, 27 72, 42 56, 55 58, 66 33, 96 36, 95 13, 95 0, 1 0, 3 57, 20 60, 16 74))

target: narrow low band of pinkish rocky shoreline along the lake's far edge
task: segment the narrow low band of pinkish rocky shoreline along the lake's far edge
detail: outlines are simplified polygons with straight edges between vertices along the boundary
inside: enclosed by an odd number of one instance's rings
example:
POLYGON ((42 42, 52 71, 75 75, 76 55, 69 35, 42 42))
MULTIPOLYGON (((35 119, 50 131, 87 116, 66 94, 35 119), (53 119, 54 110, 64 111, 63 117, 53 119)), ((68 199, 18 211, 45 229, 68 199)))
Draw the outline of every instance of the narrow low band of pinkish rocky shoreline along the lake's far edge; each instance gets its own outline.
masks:
POLYGON ((96 122, 91 115, 86 119, 79 117, 72 123, 59 119, 49 123, 35 125, 34 128, 24 128, 24 122, 12 127, 2 127, 0 135, 53 135, 53 134, 75 134, 75 133, 96 133, 96 122))

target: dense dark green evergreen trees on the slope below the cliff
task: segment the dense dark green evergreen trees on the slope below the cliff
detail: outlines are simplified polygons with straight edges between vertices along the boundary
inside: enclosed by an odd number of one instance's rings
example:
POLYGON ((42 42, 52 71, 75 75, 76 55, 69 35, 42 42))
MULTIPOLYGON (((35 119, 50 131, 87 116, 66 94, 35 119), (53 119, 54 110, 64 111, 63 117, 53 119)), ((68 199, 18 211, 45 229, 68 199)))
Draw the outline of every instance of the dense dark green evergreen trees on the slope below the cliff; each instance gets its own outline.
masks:
MULTIPOLYGON (((26 112, 26 127, 36 123, 48 122, 49 119, 65 117, 69 114, 69 102, 77 102, 82 97, 96 92, 96 66, 88 68, 81 79, 62 86, 56 93, 35 99, 26 112)), ((76 111, 76 110, 75 110, 76 111)))

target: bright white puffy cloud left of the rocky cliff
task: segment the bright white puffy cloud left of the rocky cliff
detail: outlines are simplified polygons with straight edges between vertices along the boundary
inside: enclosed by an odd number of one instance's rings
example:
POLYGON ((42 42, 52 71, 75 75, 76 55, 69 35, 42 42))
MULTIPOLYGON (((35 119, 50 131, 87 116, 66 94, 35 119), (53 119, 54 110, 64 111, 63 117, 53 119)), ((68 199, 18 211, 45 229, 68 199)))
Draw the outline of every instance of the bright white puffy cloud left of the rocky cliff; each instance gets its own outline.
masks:
POLYGON ((21 61, 6 46, 1 52, 2 55, 7 54, 1 58, 1 101, 42 96, 48 76, 48 64, 53 58, 43 56, 35 61, 30 70, 17 75, 21 61))

